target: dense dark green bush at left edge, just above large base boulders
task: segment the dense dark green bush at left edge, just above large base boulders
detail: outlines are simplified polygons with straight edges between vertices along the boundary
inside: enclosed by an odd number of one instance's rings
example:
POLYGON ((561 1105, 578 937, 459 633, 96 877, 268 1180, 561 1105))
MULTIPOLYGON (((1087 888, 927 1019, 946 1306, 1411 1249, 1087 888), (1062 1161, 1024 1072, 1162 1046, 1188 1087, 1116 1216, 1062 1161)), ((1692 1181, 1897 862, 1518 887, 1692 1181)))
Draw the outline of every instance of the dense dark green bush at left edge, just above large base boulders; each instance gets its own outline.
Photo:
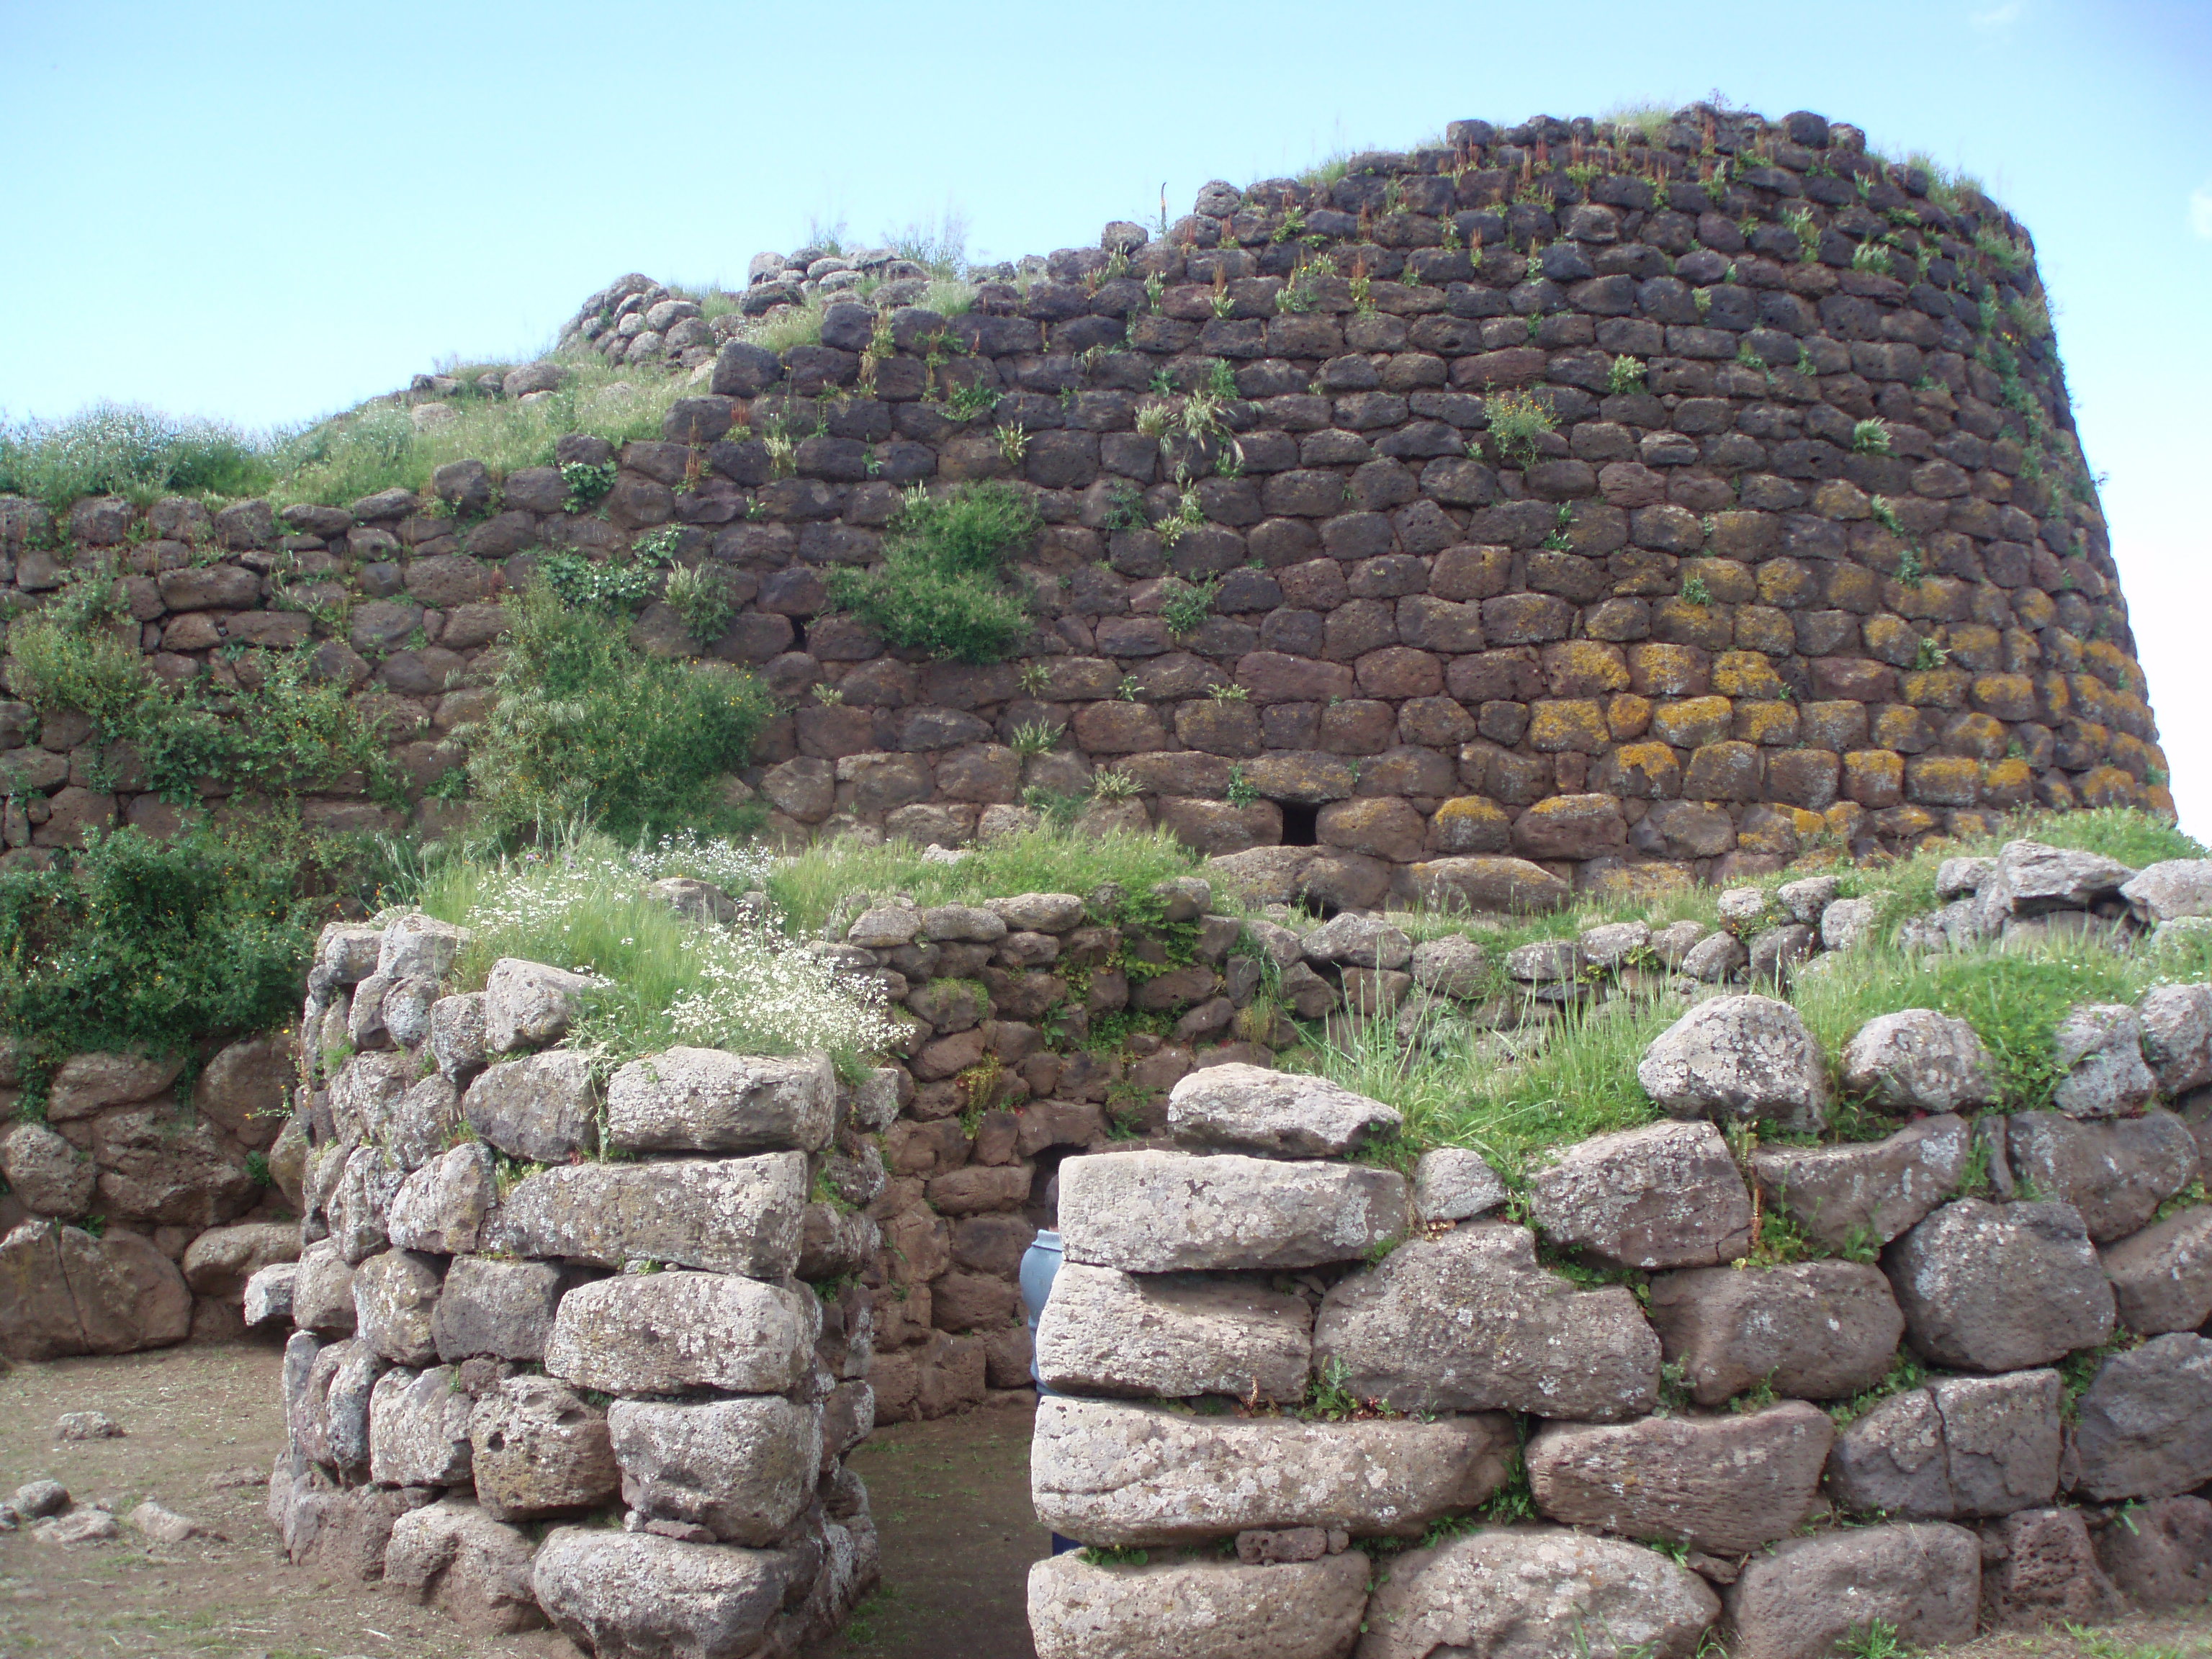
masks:
POLYGON ((33 1077, 84 1048, 175 1053, 296 1015, 321 927, 296 847, 117 830, 69 863, 0 869, 0 1031, 33 1077))

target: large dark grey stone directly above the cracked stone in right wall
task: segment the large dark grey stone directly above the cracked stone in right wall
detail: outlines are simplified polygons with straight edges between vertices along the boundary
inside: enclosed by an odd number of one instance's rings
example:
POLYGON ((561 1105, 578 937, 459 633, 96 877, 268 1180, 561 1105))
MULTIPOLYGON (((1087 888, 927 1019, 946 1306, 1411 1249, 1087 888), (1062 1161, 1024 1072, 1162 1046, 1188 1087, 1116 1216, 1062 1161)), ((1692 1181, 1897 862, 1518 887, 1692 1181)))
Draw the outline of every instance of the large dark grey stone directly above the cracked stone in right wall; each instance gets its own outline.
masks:
POLYGON ((2112 1287, 2066 1203, 1947 1203, 1882 1267, 1907 1338, 1938 1365, 2020 1371, 2112 1334, 2112 1287))

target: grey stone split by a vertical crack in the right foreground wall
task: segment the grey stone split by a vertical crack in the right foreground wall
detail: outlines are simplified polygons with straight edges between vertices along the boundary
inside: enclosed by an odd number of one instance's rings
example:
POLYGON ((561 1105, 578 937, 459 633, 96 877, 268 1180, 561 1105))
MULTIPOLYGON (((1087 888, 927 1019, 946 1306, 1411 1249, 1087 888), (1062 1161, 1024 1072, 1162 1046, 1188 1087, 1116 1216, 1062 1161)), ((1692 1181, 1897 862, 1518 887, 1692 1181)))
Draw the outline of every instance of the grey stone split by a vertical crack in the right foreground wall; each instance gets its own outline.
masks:
POLYGON ((1836 1440, 1829 1495, 1863 1515, 1955 1520, 2048 1504, 2059 1374, 1947 1376, 1882 1400, 1836 1440))

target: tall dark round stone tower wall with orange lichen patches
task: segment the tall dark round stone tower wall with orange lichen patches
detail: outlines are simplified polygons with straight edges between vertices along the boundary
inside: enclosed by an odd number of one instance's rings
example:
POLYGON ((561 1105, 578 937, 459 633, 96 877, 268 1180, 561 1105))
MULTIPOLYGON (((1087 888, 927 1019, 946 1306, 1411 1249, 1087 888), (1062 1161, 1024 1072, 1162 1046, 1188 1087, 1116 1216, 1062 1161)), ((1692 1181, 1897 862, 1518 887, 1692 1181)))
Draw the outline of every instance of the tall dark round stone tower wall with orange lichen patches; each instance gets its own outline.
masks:
MULTIPOLYGON (((0 588, 38 608, 119 557, 170 679, 310 650, 389 717, 429 827, 500 595, 546 549, 641 542, 721 580, 706 653, 790 699, 745 781, 792 838, 953 845, 1110 772, 1095 816, 1316 845, 1316 891, 1371 907, 1433 856, 1728 880, 1816 836, 2170 810, 2026 232, 1856 128, 1455 122, 1334 181, 1210 184, 1166 237, 1108 226, 953 316, 889 268, 863 296, 757 263, 745 314, 821 305, 821 343, 719 338, 644 279, 571 327, 695 365, 661 440, 281 513, 0 502, 0 588), (830 608, 900 491, 993 478, 1044 518, 1013 659, 887 650, 830 608)), ((635 637, 695 648, 659 599, 635 637)), ((0 703, 9 847, 175 823, 88 737, 0 703)))

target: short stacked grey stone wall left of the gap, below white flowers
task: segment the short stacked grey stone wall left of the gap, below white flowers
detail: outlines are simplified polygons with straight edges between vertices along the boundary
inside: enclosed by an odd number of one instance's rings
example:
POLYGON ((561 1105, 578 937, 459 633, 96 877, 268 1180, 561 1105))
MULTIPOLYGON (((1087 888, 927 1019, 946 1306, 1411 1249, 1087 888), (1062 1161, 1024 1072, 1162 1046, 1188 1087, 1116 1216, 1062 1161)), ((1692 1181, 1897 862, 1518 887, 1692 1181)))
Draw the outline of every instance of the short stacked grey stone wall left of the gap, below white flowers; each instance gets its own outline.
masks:
POLYGON ((827 1057, 557 1046, 588 982, 460 929, 323 933, 301 1022, 307 1245, 283 1303, 294 1562, 599 1655, 796 1652, 876 1579, 874 1225, 838 1197, 883 1086, 827 1057))

